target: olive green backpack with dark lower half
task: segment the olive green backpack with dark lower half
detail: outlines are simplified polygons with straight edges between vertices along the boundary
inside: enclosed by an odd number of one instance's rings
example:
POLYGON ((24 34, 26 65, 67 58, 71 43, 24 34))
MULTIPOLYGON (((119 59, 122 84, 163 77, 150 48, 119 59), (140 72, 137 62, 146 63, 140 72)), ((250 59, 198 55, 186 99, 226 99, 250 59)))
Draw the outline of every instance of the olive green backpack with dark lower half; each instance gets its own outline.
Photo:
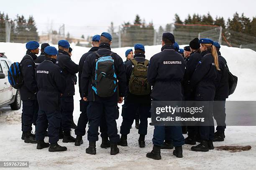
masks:
POLYGON ((131 59, 131 62, 134 67, 129 81, 129 91, 133 95, 149 95, 151 92, 151 85, 147 79, 149 61, 145 59, 144 62, 138 62, 131 59))

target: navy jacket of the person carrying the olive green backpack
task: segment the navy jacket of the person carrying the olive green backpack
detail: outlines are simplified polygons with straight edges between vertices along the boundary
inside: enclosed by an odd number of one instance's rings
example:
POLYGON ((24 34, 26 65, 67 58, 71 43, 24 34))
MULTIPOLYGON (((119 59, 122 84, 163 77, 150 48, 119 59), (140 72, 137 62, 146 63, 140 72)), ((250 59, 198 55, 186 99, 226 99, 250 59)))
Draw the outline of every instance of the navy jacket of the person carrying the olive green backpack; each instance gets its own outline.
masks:
MULTIPOLYGON (((144 54, 136 54, 136 55, 134 55, 134 59, 138 62, 145 62, 145 55, 144 54)), ((151 104, 150 94, 149 95, 133 95, 130 93, 129 81, 131 78, 132 71, 133 71, 133 63, 131 62, 131 60, 127 60, 125 62, 125 73, 126 73, 126 82, 127 82, 125 102, 151 104)))

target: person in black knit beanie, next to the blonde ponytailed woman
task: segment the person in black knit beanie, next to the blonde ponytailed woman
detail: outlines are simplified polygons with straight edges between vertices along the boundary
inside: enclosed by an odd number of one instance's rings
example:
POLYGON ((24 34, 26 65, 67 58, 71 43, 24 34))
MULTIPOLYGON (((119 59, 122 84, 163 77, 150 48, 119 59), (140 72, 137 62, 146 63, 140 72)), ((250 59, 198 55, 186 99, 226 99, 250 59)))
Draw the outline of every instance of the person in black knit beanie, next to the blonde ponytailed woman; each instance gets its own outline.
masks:
MULTIPOLYGON (((184 100, 185 101, 194 101, 195 95, 191 91, 190 87, 190 79, 192 77, 193 72, 195 71, 196 65, 202 59, 202 55, 200 54, 200 43, 198 38, 194 38, 189 42, 190 48, 190 56, 187 59, 187 67, 183 80, 183 89, 184 89, 184 100)), ((188 50, 188 49, 187 49, 188 50)), ((197 126, 188 126, 188 137, 185 138, 185 144, 195 145, 196 142, 199 142, 199 134, 197 126)))

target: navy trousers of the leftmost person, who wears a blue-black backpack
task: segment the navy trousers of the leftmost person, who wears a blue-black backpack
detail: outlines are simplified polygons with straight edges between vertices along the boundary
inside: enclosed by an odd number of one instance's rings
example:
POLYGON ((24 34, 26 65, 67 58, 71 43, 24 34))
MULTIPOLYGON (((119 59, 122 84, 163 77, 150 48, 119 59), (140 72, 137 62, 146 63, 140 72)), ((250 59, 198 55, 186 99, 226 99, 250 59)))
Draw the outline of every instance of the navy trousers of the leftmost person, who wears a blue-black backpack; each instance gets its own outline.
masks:
POLYGON ((38 108, 37 100, 22 100, 21 130, 24 133, 32 130, 32 124, 36 126, 38 108))

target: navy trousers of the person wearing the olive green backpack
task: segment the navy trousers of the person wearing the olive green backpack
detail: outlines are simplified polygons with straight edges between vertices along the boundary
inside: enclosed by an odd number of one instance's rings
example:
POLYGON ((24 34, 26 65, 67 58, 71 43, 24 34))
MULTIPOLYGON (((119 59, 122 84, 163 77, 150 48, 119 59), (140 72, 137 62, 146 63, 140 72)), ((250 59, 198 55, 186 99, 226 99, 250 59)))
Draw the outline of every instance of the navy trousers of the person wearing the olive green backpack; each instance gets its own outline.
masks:
POLYGON ((148 129, 148 117, 150 117, 150 108, 151 105, 148 104, 125 102, 122 107, 123 122, 120 127, 120 133, 122 135, 128 135, 130 133, 131 125, 138 113, 140 120, 138 134, 146 135, 148 129))

